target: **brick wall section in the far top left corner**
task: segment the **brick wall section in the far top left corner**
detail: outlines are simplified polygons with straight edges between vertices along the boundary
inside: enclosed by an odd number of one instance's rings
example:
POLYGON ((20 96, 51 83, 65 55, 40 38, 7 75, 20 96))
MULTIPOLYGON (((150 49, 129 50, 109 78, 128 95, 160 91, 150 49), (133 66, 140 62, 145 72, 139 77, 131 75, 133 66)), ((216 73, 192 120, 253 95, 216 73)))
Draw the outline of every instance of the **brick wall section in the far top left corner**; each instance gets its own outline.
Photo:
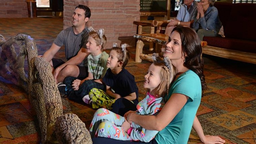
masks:
POLYGON ((0 18, 27 18, 26 0, 0 0, 0 18))

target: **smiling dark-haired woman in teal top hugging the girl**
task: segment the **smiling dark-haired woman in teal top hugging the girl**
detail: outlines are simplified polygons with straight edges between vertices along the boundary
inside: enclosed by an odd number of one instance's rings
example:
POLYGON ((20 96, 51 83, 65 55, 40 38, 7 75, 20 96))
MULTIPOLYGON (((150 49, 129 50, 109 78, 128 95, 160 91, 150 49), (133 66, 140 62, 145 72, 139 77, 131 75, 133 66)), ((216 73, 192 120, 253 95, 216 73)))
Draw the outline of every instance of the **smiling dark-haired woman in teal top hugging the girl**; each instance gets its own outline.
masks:
MULTIPOLYGON (((138 115, 133 111, 124 114, 128 122, 135 122, 148 130, 157 130, 159 133, 150 144, 186 144, 193 125, 198 121, 197 109, 201 102, 202 92, 206 89, 203 74, 203 59, 201 58, 201 42, 191 28, 174 28, 166 44, 164 56, 168 56, 177 69, 177 75, 165 97, 166 104, 157 115, 138 115)), ((198 131, 198 125, 195 129, 198 131)), ((201 129, 202 130, 202 129, 201 129)), ((202 137, 202 133, 199 137, 202 137)), ((135 143, 113 141, 107 138, 94 138, 93 144, 103 143, 135 143)), ((225 142, 218 136, 205 137, 204 143, 225 142)), ((138 142, 140 143, 140 142, 138 142)))

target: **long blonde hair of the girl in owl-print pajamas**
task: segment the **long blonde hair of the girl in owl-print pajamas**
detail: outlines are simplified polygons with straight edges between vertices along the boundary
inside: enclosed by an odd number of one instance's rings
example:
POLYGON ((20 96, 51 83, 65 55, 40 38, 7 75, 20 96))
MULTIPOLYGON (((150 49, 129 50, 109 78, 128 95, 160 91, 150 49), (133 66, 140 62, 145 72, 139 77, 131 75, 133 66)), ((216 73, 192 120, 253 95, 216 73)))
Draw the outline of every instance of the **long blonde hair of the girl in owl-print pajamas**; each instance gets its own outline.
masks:
POLYGON ((152 59, 155 66, 161 67, 160 70, 160 84, 151 92, 156 97, 164 97, 169 92, 169 87, 176 75, 176 68, 172 65, 168 56, 163 59, 158 57, 156 53, 153 54, 152 59))

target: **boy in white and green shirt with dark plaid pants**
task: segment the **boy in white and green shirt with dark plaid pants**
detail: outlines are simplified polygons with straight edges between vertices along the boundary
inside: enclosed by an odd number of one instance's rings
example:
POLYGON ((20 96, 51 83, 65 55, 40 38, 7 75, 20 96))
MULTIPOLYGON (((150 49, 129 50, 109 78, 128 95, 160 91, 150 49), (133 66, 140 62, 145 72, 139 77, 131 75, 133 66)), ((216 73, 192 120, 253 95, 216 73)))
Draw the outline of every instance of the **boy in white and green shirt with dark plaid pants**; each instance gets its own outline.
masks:
POLYGON ((103 51, 106 44, 106 36, 104 29, 99 29, 95 32, 91 27, 89 32, 88 42, 86 43, 88 55, 88 77, 80 80, 76 77, 66 77, 64 84, 59 85, 58 89, 61 95, 67 95, 68 99, 75 102, 83 103, 82 98, 88 95, 92 88, 104 89, 105 86, 101 82, 104 77, 107 67, 108 54, 103 51))

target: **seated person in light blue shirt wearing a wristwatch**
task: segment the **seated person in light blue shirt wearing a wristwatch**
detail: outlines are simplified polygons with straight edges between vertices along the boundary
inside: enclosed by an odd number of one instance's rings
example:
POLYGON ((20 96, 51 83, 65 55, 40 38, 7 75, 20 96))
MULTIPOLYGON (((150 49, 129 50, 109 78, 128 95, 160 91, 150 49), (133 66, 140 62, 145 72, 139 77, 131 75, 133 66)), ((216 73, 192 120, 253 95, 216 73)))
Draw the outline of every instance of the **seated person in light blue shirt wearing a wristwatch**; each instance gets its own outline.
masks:
MULTIPOLYGON (((165 29, 165 35, 170 36, 176 26, 190 27, 197 15, 197 2, 194 0, 184 0, 176 19, 171 19, 165 29)), ((165 48, 165 46, 163 47, 165 48)))

